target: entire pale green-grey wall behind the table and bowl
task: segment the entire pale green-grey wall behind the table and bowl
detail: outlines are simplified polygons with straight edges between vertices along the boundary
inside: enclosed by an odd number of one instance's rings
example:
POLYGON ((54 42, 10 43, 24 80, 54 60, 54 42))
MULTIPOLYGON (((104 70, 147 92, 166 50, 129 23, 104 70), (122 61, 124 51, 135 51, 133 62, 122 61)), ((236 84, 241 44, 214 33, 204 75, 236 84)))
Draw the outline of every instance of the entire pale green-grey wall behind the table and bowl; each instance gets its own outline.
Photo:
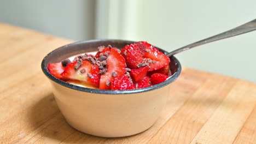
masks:
MULTIPOLYGON (((172 51, 256 19, 255 5, 255 0, 6 0, 0 1, 0 22, 74 40, 145 40, 172 51)), ((255 53, 251 32, 176 57, 187 67, 256 82, 255 53)))

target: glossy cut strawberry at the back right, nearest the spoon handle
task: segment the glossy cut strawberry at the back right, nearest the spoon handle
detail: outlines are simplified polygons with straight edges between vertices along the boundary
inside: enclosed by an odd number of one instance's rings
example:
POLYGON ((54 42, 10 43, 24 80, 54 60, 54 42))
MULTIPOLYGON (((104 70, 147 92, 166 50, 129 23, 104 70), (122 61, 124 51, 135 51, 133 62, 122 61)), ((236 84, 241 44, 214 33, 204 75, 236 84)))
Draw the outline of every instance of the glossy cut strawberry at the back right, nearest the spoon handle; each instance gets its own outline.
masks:
POLYGON ((153 61, 152 63, 149 63, 150 69, 148 71, 161 69, 170 63, 170 58, 155 48, 153 45, 150 45, 145 41, 142 41, 141 43, 146 47, 144 57, 150 58, 153 61))

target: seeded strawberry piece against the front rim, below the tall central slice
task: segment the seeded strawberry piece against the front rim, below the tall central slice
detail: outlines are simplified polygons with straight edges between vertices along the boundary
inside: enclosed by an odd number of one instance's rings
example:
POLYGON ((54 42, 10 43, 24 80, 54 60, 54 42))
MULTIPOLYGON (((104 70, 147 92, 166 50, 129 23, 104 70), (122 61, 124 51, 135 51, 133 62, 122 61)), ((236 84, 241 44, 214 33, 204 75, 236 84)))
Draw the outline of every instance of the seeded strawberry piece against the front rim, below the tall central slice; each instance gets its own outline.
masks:
POLYGON ((111 82, 112 90, 126 90, 126 89, 135 89, 132 83, 129 80, 129 77, 126 75, 119 75, 114 77, 111 82))

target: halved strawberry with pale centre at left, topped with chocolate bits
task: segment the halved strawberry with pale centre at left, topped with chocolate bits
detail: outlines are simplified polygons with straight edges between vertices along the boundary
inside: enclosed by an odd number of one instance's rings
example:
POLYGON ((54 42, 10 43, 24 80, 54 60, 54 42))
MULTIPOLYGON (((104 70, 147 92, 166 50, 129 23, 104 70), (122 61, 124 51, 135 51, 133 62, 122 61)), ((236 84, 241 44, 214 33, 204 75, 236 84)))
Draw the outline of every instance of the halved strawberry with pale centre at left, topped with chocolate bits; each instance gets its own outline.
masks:
POLYGON ((61 75, 69 80, 87 82, 98 87, 100 83, 100 69, 98 69, 98 66, 91 64, 89 61, 83 61, 82 66, 75 71, 76 63, 77 61, 69 63, 61 75))

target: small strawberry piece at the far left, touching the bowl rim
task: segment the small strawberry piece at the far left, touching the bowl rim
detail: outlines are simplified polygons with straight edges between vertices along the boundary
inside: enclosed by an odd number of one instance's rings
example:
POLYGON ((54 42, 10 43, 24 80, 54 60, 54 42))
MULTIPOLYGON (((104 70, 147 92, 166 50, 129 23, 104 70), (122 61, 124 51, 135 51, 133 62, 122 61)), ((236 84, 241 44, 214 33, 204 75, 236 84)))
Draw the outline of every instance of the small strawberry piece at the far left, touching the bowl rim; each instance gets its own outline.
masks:
POLYGON ((48 70, 49 72, 57 77, 58 79, 63 80, 63 76, 61 76, 61 73, 64 71, 64 67, 62 67, 61 62, 60 63, 49 63, 48 64, 48 70))

